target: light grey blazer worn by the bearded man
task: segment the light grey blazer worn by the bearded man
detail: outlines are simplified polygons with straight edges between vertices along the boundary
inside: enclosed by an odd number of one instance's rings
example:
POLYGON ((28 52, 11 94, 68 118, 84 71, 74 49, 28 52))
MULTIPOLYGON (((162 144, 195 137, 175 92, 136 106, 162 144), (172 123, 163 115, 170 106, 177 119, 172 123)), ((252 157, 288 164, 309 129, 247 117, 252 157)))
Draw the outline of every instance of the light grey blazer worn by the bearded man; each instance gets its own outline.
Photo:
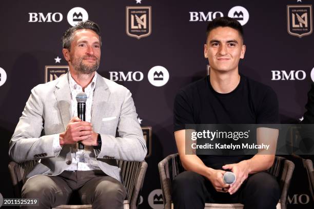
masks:
MULTIPOLYGON (((130 91, 99 74, 93 96, 91 123, 102 137, 101 152, 94 150, 100 169, 120 180, 115 159, 144 160, 147 149, 130 91), (116 132, 119 137, 116 136, 116 132)), ((71 119, 68 74, 34 87, 10 140, 9 155, 16 161, 41 159, 28 175, 59 175, 71 164, 71 146, 60 153, 53 138, 64 132, 71 119)))

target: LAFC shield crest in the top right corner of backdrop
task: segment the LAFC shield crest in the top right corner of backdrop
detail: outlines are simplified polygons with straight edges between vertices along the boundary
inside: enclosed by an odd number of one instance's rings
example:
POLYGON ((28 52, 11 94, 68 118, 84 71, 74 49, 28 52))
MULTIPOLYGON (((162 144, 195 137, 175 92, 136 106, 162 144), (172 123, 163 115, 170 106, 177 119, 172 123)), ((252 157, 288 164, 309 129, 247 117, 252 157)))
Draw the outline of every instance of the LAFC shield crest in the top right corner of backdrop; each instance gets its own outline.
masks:
POLYGON ((312 5, 287 5, 287 27, 290 35, 302 37, 312 33, 312 5))

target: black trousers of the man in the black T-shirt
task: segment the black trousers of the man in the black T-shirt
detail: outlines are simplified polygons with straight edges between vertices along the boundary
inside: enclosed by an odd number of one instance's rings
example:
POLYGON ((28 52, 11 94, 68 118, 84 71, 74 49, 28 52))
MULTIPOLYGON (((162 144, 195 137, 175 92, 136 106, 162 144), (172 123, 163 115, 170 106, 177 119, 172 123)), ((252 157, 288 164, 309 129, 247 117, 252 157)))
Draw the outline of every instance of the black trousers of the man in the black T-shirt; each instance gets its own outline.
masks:
POLYGON ((185 171, 172 181, 172 202, 174 208, 204 209, 208 203, 242 203, 244 208, 276 208, 280 198, 279 184, 267 172, 259 172, 243 182, 233 195, 217 192, 204 176, 185 171))

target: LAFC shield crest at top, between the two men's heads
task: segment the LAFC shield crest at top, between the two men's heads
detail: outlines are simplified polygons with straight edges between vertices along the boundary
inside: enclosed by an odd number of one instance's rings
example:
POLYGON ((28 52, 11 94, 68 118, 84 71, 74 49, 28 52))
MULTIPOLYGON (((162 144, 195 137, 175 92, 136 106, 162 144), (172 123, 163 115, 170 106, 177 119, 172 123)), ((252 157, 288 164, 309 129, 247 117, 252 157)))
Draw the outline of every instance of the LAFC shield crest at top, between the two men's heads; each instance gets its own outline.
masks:
POLYGON ((126 33, 138 39, 151 33, 151 7, 126 7, 126 33))

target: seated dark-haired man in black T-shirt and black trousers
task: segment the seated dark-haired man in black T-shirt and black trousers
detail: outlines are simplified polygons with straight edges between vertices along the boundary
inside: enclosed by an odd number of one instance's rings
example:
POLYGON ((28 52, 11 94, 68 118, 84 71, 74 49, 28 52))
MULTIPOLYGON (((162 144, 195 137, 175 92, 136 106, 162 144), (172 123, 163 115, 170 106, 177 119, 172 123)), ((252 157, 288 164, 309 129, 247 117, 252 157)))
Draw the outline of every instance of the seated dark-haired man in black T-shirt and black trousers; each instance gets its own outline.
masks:
MULTIPOLYGON (((242 203, 245 208, 276 208, 278 182, 264 172, 274 155, 186 155, 186 124, 279 123, 278 100, 270 87, 239 74, 244 58, 243 30, 230 17, 214 19, 207 27, 204 55, 210 75, 181 89, 174 101, 174 137, 187 170, 172 182, 174 208, 204 208, 205 202, 242 203), (224 183, 226 170, 236 181, 224 183)), ((267 140, 277 141, 278 130, 262 128, 267 140)), ((285 204, 285 203, 282 203, 285 204)))

